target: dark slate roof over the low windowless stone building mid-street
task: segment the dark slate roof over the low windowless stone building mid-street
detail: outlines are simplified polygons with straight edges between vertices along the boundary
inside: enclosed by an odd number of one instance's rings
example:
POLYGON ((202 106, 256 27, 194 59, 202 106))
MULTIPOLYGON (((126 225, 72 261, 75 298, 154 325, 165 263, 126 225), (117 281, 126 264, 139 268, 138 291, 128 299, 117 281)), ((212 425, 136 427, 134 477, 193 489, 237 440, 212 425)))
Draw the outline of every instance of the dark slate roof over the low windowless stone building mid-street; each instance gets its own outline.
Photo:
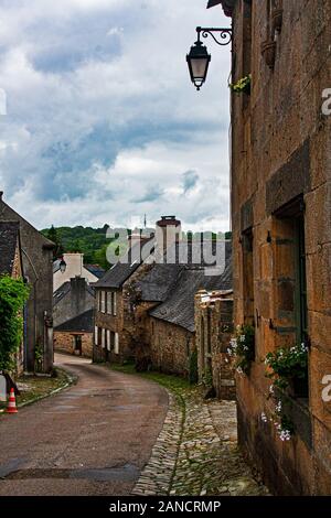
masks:
POLYGON ((227 260, 222 276, 206 276, 204 269, 183 267, 175 279, 169 295, 149 314, 156 319, 180 325, 194 332, 194 295, 201 290, 232 290, 232 263, 227 260))

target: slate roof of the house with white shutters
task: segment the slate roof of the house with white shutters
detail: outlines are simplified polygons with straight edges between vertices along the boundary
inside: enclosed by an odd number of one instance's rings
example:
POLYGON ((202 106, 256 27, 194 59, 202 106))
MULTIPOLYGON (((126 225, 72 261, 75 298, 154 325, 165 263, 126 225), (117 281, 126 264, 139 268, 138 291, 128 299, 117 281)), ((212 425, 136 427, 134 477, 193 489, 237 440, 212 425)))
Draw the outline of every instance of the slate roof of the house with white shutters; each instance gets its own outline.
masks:
MULTIPOLYGON (((153 242, 153 238, 149 239, 150 246, 153 242)), ((147 242, 143 241, 143 245, 147 242)), ((137 242, 132 246, 128 253, 128 261, 122 258, 126 262, 117 262, 114 265, 100 280, 94 283, 95 288, 115 288, 119 289, 126 282, 129 277, 139 268, 141 265, 140 258, 140 242, 137 242)))

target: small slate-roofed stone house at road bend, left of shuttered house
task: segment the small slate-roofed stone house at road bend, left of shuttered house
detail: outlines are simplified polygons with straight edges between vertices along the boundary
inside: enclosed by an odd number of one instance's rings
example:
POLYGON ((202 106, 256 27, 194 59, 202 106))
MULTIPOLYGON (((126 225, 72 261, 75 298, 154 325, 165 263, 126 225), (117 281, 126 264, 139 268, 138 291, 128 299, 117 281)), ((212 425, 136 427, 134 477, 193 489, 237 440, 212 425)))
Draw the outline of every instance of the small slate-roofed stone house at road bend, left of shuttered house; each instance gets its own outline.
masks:
POLYGON ((95 292, 86 279, 75 277, 54 292, 54 348, 92 357, 95 292))

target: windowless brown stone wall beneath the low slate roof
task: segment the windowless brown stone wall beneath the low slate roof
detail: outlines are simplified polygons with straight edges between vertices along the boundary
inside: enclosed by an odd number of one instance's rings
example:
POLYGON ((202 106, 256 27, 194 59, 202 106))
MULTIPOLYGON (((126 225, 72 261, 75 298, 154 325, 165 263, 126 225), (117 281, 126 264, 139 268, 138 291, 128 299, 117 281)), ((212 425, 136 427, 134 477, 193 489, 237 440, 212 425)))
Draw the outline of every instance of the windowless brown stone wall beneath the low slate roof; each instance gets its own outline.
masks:
POLYGON ((153 368, 189 377, 194 333, 179 325, 150 317, 150 355, 153 368))

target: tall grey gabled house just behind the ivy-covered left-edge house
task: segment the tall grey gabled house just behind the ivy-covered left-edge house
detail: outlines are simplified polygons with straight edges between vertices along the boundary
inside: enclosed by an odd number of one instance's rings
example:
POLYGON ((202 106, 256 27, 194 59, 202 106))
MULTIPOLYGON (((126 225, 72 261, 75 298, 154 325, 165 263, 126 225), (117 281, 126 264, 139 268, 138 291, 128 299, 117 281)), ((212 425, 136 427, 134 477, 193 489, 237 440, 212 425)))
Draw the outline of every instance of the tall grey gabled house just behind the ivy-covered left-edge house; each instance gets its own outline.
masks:
POLYGON ((0 222, 15 222, 20 227, 23 271, 31 285, 25 304, 24 370, 35 369, 35 347, 42 350, 42 371, 53 367, 53 270, 54 244, 7 205, 0 192, 0 222))

